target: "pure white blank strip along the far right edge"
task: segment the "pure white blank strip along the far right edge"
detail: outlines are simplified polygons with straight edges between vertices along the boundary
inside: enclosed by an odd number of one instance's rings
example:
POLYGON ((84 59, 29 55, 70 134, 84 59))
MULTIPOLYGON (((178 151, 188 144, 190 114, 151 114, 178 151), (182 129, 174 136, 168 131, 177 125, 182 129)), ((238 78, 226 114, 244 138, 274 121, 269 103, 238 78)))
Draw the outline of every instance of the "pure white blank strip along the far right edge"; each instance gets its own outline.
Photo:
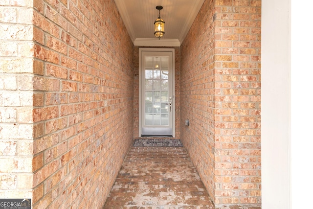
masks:
POLYGON ((312 0, 291 0, 292 209, 313 209, 312 8, 312 0))

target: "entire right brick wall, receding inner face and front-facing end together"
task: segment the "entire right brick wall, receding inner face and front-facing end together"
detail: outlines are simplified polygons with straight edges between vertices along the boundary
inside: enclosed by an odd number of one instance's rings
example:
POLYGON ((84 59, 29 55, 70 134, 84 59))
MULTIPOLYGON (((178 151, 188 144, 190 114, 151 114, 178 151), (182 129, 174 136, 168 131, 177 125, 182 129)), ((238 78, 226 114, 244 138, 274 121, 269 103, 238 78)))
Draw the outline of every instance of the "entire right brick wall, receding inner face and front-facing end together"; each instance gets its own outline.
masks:
POLYGON ((181 45, 181 139, 216 207, 261 206, 261 0, 205 0, 181 45))

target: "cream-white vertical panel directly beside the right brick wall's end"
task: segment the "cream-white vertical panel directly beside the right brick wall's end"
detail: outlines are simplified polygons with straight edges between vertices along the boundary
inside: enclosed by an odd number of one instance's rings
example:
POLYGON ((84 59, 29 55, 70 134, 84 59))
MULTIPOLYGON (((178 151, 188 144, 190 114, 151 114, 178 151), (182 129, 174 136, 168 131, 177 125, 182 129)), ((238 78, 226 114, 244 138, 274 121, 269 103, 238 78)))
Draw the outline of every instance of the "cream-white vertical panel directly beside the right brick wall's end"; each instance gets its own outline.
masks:
POLYGON ((262 1, 262 209, 289 208, 288 0, 262 1))

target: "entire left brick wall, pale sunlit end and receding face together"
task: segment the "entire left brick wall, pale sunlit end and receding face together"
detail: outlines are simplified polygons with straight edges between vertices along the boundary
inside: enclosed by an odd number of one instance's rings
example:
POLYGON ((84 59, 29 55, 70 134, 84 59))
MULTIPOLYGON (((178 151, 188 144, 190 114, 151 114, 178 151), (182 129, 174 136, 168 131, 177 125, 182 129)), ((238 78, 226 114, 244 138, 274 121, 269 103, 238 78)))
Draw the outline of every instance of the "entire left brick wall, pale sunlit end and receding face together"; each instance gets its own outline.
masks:
POLYGON ((133 139, 133 44, 112 0, 0 7, 0 198, 101 208, 133 139))

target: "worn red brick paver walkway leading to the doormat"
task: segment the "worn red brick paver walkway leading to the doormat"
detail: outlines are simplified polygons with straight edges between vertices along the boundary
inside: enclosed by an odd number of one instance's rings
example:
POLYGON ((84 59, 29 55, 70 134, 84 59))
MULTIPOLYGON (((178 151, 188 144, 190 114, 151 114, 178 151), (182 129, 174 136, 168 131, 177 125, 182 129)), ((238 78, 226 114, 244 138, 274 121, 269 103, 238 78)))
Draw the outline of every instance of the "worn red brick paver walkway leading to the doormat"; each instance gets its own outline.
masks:
POLYGON ((214 209, 183 147, 131 147, 103 209, 214 209))

